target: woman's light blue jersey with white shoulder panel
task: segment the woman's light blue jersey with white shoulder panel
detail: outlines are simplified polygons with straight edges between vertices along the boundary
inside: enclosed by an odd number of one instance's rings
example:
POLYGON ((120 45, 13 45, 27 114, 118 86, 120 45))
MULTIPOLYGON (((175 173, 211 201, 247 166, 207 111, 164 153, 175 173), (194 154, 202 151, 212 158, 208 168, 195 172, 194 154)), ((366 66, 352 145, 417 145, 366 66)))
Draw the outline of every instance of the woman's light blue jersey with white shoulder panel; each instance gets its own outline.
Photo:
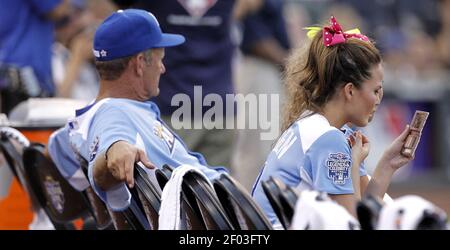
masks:
MULTIPOLYGON (((351 134, 352 130, 345 129, 344 134, 331 126, 324 116, 313 114, 296 121, 282 134, 252 190, 272 224, 279 222, 261 186, 270 176, 303 190, 353 193, 351 148, 346 139, 346 134, 351 134)), ((365 170, 360 174, 366 175, 365 170)))

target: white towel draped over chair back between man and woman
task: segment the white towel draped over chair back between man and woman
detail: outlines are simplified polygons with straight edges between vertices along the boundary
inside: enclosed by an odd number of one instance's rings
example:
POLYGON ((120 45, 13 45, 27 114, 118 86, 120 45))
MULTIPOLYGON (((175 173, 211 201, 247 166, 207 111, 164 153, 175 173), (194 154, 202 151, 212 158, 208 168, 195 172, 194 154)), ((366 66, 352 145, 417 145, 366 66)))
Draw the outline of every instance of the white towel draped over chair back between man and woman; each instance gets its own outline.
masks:
MULTIPOLYGON (((169 181, 164 186, 161 207, 159 209, 159 230, 179 230, 180 218, 181 218, 181 187, 183 183, 183 177, 188 172, 196 172, 202 175, 206 180, 206 176, 198 169, 190 165, 180 165, 175 168, 169 181)), ((209 182, 209 185, 212 184, 209 182)))

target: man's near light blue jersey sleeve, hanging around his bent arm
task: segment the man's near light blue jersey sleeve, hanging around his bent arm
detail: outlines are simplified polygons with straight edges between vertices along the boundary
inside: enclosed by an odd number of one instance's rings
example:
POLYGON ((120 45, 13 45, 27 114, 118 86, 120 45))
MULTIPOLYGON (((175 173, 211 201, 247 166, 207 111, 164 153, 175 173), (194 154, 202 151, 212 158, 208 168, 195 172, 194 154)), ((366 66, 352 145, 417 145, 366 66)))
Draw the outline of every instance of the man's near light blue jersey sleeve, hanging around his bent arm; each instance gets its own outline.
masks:
POLYGON ((130 204, 131 194, 125 183, 109 190, 102 190, 94 181, 92 169, 97 156, 105 152, 114 142, 126 141, 134 145, 136 135, 136 128, 125 112, 112 105, 99 108, 89 128, 89 182, 97 195, 113 211, 126 209, 130 204))

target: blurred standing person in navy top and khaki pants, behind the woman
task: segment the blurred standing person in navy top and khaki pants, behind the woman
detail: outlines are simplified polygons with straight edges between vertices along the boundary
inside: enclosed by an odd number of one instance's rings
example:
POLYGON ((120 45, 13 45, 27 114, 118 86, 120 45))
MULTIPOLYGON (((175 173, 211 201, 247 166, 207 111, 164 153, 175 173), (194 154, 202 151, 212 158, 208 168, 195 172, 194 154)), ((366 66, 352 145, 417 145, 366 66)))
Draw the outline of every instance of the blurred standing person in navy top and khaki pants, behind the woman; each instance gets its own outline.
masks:
MULTIPOLYGON (((290 49, 283 15, 284 1, 264 0, 260 5, 257 11, 248 14, 241 21, 243 38, 240 48, 243 55, 237 62, 236 90, 237 93, 244 95, 277 94, 280 106, 280 102, 284 99, 280 80, 281 70, 290 49)), ((260 108, 269 112, 270 106, 277 105, 270 100, 268 98, 268 106, 260 108)), ((250 113, 254 112, 258 111, 245 110, 238 113, 238 119, 245 119, 246 124, 249 124, 250 113)), ((272 117, 279 117, 278 113, 267 116, 271 117, 272 121, 279 122, 279 119, 272 117)), ((279 127, 280 125, 277 126, 279 127)), ((262 132, 261 128, 238 130, 232 164, 233 173, 248 190, 251 189, 275 139, 262 140, 260 137, 262 132)))

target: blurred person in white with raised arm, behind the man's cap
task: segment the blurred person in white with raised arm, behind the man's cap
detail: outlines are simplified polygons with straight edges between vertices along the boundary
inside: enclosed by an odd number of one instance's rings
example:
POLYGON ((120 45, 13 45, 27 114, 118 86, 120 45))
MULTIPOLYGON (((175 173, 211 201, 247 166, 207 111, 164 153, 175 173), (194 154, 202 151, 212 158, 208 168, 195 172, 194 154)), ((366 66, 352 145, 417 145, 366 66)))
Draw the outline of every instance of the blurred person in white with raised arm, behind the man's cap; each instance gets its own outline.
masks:
POLYGON ((57 96, 91 101, 98 92, 93 64, 92 37, 95 17, 83 0, 71 0, 69 20, 56 28, 52 69, 57 96))

